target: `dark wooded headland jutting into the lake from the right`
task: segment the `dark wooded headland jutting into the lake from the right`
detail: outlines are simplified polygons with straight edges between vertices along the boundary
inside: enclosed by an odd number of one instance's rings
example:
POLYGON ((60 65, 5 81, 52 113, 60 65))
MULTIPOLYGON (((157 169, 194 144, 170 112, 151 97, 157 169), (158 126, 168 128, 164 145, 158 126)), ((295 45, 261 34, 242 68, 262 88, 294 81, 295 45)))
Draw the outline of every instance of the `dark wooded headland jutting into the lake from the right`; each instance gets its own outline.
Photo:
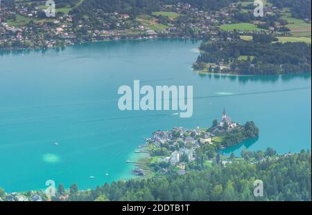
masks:
POLYGON ((216 63, 229 65, 230 70, 226 72, 261 75, 311 71, 311 45, 302 42, 257 42, 261 40, 254 37, 254 41, 239 39, 202 44, 200 50, 203 53, 194 67, 216 63), (241 59, 240 56, 248 58, 241 59))

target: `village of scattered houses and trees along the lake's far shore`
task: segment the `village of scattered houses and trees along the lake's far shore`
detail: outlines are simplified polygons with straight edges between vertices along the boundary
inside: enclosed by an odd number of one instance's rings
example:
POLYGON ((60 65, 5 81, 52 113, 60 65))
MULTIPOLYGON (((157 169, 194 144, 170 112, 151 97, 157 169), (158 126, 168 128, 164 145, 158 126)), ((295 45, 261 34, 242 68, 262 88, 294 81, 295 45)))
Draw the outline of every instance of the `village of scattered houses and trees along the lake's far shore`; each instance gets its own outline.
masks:
MULTIPOLYGON (((71 12, 80 7, 83 0, 70 2, 60 9, 58 8, 62 5, 57 5, 55 17, 46 17, 45 1, 15 1, 13 6, 3 1, 0 10, 0 48, 53 48, 85 41, 158 37, 209 38, 217 41, 224 37, 228 40, 235 39, 238 34, 250 35, 252 32, 289 35, 285 28, 279 28, 274 23, 263 25, 263 22, 258 22, 259 28, 254 30, 231 30, 226 33, 223 26, 243 21, 238 12, 250 7, 241 6, 239 3, 232 3, 229 7, 214 12, 199 10, 189 3, 177 3, 164 5, 160 11, 150 15, 136 17, 120 12, 107 13, 94 8, 93 17, 89 17, 71 12)), ((249 9, 252 11, 252 8, 249 9)), ((280 9, 271 5, 266 5, 264 10, 268 16, 282 14, 280 9)), ((306 18, 306 22, 310 20, 306 18)))

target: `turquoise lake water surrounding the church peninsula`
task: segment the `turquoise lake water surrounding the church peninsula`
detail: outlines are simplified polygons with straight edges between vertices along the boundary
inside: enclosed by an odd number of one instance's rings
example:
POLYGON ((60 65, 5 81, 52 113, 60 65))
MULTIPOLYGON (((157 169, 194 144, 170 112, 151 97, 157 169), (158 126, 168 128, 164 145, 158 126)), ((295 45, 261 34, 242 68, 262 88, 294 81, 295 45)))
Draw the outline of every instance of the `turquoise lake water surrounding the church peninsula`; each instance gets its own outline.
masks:
POLYGON ((310 73, 199 75, 191 68, 199 46, 180 39, 106 41, 1 55, 0 187, 44 189, 51 179, 87 189, 128 179, 133 166, 125 161, 137 159, 144 138, 158 129, 209 127, 224 107, 232 120, 252 120, 260 129, 258 140, 225 153, 311 149, 310 73), (119 111, 118 88, 133 80, 192 85, 193 116, 119 111))

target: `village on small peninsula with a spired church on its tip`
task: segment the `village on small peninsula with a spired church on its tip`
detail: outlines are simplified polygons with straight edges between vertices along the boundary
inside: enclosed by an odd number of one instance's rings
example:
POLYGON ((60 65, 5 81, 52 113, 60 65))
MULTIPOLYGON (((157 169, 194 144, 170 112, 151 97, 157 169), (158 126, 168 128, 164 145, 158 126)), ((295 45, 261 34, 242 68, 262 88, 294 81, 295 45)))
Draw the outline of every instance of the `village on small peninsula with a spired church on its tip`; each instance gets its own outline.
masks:
POLYGON ((241 142, 257 138, 259 129, 254 122, 244 125, 233 122, 223 110, 220 122, 214 120, 207 128, 184 129, 174 127, 171 131, 156 131, 146 144, 139 146, 136 153, 148 156, 135 162, 132 173, 136 176, 161 174, 187 174, 188 169, 198 169, 217 162, 221 165, 231 163, 234 154, 221 156, 220 150, 234 147, 241 142))

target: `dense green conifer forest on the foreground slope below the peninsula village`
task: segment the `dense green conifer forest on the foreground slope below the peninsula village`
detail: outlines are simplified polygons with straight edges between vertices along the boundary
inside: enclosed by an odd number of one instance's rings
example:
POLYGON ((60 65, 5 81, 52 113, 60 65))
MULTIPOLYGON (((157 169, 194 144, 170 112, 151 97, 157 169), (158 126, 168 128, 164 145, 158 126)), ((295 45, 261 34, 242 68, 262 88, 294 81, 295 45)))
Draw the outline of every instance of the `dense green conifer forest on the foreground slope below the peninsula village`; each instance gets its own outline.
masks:
POLYGON ((311 153, 272 154, 254 164, 214 164, 184 176, 119 181, 92 191, 72 186, 69 200, 311 200, 311 153), (257 179, 263 197, 253 195, 257 179))

